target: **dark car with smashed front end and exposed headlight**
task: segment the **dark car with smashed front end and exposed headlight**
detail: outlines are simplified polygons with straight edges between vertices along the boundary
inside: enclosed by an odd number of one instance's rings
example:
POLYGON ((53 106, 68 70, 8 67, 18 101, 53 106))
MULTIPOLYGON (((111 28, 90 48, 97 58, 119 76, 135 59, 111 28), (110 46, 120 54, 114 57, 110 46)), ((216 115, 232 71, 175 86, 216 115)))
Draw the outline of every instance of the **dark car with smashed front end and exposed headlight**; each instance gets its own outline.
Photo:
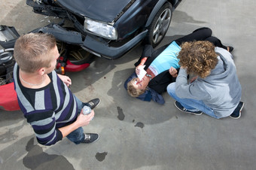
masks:
POLYGON ((36 32, 81 46, 96 56, 117 59, 139 42, 156 47, 181 0, 27 0, 37 14, 63 18, 36 32), (66 27, 66 20, 72 27, 66 27))

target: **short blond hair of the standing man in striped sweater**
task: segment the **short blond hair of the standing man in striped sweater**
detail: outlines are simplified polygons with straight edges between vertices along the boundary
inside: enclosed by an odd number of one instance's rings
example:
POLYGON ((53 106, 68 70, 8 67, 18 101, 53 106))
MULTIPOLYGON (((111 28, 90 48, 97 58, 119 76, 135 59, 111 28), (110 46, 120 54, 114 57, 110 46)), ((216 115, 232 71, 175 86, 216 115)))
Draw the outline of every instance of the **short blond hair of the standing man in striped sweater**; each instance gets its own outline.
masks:
POLYGON ((50 67, 52 56, 49 51, 56 46, 53 35, 29 33, 20 36, 14 45, 14 59, 20 69, 33 73, 40 68, 50 67))

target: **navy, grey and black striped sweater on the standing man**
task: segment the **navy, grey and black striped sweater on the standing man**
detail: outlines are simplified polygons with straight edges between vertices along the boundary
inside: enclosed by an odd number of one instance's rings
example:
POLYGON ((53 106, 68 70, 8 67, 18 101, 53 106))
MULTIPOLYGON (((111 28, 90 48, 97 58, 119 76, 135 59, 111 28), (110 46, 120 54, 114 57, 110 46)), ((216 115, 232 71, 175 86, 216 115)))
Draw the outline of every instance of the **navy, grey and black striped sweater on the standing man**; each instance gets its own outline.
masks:
POLYGON ((44 145, 62 140, 59 128, 75 122, 78 117, 78 106, 69 87, 56 71, 48 76, 51 81, 46 87, 29 89, 20 83, 19 66, 14 66, 14 88, 20 109, 34 129, 38 143, 44 145))

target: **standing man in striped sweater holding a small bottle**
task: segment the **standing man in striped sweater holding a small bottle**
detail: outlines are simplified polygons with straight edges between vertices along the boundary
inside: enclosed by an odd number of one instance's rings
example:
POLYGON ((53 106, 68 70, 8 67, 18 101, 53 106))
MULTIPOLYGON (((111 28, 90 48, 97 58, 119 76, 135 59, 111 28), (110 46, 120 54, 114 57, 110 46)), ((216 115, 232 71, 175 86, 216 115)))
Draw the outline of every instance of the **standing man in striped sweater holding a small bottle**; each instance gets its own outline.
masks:
POLYGON ((29 33, 17 39, 14 85, 20 109, 40 144, 56 144, 64 137, 75 144, 92 143, 99 135, 84 134, 82 126, 93 119, 99 99, 83 103, 72 94, 71 79, 54 71, 58 57, 52 35, 29 33), (84 105, 92 109, 90 114, 81 113, 84 105))

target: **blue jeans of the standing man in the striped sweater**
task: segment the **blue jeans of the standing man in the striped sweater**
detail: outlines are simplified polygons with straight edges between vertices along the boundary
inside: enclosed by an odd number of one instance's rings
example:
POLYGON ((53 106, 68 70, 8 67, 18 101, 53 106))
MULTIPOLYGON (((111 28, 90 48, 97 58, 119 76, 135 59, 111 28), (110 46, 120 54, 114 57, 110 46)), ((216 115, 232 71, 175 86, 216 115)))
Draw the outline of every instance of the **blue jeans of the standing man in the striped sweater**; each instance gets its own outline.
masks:
MULTIPOLYGON (((76 96, 75 96, 75 102, 77 102, 78 113, 80 114, 82 108, 84 108, 84 105, 86 105, 86 103, 81 102, 76 96)), ((84 141, 84 129, 82 127, 75 129, 73 132, 67 135, 67 138, 69 138, 69 140, 73 141, 75 144, 80 144, 81 141, 84 141)))

